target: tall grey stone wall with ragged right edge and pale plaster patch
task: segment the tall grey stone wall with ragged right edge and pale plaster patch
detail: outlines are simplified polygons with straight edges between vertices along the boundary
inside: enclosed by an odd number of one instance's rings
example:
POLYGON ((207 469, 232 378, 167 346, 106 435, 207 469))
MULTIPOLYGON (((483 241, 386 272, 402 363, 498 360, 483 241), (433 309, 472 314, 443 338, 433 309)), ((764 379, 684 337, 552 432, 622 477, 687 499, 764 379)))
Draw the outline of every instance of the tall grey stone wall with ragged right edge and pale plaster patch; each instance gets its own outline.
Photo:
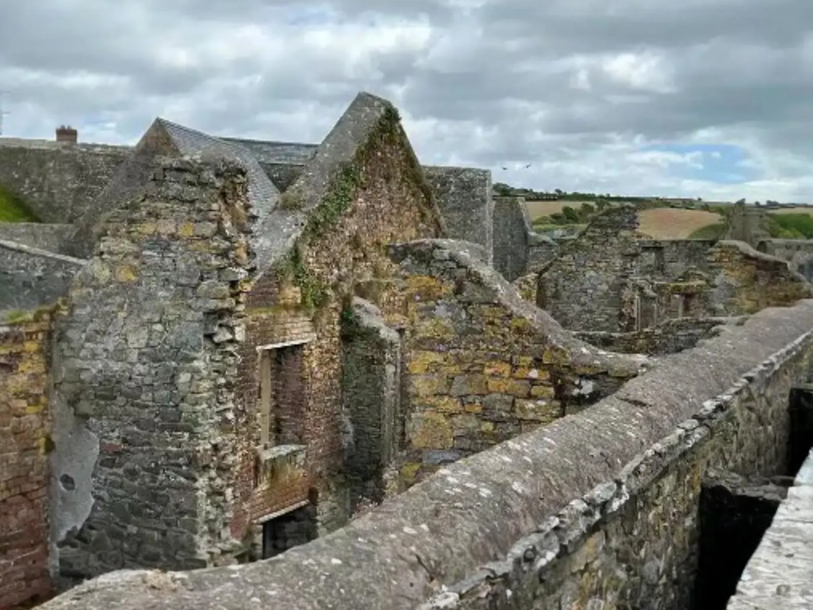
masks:
POLYGON ((242 168, 156 159, 72 282, 51 399, 60 584, 230 559, 246 202, 242 168))

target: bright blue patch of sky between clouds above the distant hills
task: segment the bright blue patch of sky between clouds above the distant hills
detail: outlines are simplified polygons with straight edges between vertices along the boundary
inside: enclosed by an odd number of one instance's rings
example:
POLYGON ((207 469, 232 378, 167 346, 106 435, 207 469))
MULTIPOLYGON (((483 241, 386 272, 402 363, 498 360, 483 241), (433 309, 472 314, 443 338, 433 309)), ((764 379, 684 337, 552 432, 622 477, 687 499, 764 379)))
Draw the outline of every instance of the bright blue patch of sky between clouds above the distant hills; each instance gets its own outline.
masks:
POLYGON ((731 144, 654 144, 644 146, 641 152, 658 150, 663 152, 688 155, 700 153, 699 164, 702 167, 676 163, 670 165, 668 172, 685 180, 702 180, 718 184, 736 185, 759 178, 759 168, 741 165, 749 155, 740 146, 731 144))

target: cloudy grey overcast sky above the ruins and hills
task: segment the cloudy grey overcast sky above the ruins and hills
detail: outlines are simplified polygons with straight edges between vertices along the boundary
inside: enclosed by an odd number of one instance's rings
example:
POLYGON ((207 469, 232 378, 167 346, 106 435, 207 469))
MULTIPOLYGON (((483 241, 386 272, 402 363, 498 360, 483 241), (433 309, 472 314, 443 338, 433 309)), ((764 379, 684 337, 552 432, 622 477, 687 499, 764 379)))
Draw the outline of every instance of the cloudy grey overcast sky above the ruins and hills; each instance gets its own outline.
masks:
POLYGON ((319 142, 367 90, 494 181, 813 202, 813 0, 2 0, 0 90, 110 143, 319 142))

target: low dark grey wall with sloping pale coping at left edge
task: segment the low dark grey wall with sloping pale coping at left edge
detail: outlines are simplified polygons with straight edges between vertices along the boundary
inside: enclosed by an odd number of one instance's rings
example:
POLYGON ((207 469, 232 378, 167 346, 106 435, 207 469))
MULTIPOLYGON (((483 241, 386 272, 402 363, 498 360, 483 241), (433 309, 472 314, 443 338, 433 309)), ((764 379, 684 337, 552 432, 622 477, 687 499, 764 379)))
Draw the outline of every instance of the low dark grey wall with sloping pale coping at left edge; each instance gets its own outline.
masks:
POLYGON ((67 294, 84 260, 0 241, 0 316, 27 311, 67 294))

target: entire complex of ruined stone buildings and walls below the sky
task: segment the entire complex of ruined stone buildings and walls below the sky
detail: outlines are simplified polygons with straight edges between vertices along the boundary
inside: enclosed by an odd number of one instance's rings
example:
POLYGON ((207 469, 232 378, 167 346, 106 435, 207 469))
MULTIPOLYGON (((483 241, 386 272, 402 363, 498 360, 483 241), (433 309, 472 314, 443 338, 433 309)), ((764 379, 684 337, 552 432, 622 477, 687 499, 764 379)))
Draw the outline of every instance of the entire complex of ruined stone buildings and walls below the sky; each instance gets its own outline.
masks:
POLYGON ((4 138, 0 185, 4 610, 688 608, 701 489, 813 444, 789 257, 542 237, 371 94, 318 145, 4 138))

